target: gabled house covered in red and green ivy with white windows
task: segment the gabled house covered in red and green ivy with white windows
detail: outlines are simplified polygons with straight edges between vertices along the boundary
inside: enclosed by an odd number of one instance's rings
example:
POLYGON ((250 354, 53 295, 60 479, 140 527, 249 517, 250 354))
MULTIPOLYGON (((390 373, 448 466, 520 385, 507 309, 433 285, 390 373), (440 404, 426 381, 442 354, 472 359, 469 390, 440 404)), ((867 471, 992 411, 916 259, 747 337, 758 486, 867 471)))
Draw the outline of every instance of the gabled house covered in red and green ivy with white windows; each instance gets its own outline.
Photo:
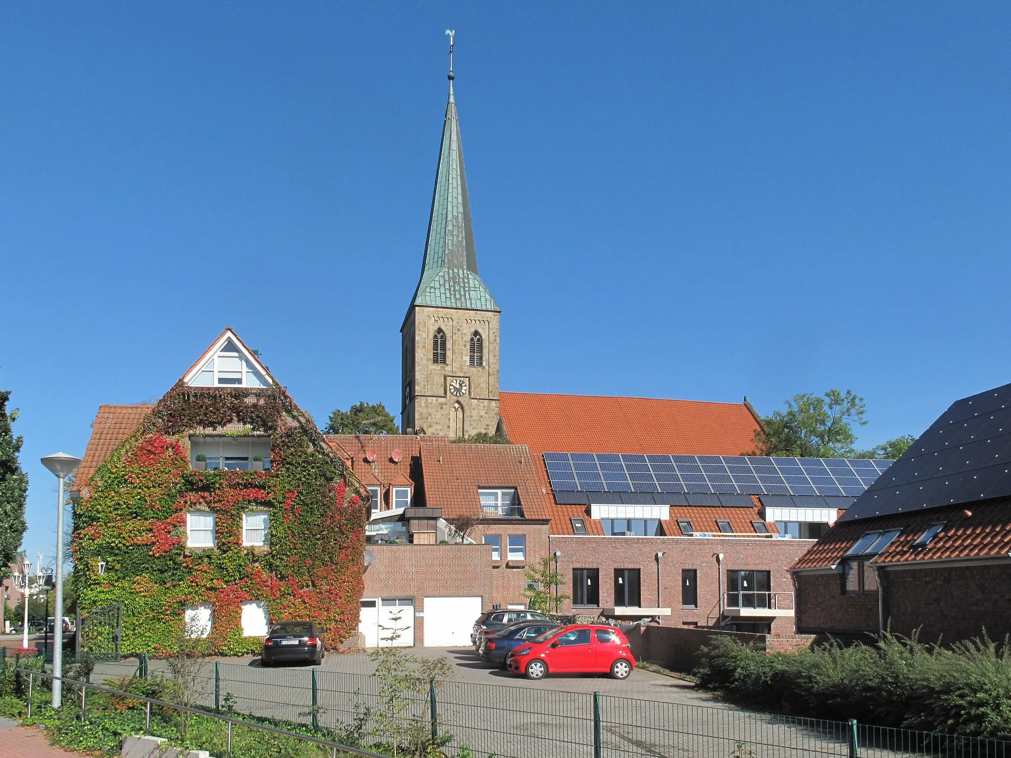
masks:
POLYGON ((180 630, 257 652, 310 620, 358 631, 368 492, 231 328, 154 405, 102 405, 78 472, 74 581, 85 613, 122 604, 122 652, 180 630))

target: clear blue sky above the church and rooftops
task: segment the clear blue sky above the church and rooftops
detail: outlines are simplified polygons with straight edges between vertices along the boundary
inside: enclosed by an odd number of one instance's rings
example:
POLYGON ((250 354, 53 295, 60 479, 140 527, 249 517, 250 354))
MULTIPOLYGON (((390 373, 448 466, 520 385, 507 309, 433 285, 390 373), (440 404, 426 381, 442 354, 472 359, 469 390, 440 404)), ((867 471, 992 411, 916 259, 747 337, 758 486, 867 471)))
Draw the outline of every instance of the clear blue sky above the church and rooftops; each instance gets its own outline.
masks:
POLYGON ((398 409, 446 28, 502 389, 852 388, 869 447, 1011 380, 1006 3, 4 3, 32 556, 39 457, 226 324, 320 421, 398 409))

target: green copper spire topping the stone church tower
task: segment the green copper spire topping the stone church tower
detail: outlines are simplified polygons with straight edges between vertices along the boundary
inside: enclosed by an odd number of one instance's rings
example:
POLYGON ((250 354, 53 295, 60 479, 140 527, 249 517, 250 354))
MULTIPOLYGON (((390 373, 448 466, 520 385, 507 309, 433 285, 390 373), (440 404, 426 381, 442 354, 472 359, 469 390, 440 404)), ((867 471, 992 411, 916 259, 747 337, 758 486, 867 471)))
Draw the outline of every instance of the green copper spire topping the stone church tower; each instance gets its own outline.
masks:
POLYGON ((429 217, 429 236, 425 243, 422 279, 415 292, 413 304, 498 311, 500 308, 477 274, 467 176, 460 144, 460 121, 453 97, 454 78, 451 68, 449 102, 429 217))

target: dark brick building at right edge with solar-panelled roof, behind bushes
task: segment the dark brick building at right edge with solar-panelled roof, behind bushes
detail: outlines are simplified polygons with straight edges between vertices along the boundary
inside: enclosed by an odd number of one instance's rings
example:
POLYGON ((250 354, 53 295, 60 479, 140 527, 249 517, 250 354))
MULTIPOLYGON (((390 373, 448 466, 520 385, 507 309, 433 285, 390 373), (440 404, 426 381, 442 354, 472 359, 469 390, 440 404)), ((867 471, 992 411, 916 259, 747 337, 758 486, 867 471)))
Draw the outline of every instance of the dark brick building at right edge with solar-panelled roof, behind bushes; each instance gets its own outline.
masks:
POLYGON ((951 405, 793 566, 798 631, 1011 634, 1011 385, 951 405))

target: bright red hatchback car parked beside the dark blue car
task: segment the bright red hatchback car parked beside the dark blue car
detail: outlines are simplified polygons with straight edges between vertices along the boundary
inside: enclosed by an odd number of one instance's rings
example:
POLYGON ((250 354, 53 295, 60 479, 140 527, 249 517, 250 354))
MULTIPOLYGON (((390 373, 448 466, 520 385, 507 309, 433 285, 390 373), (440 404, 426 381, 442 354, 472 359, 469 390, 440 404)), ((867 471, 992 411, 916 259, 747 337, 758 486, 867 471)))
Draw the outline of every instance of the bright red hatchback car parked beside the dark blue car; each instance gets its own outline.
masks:
POLYGON ((635 668, 629 641, 614 627, 575 625, 560 627, 519 645, 510 652, 505 667, 528 679, 547 673, 609 673, 625 679, 635 668))

